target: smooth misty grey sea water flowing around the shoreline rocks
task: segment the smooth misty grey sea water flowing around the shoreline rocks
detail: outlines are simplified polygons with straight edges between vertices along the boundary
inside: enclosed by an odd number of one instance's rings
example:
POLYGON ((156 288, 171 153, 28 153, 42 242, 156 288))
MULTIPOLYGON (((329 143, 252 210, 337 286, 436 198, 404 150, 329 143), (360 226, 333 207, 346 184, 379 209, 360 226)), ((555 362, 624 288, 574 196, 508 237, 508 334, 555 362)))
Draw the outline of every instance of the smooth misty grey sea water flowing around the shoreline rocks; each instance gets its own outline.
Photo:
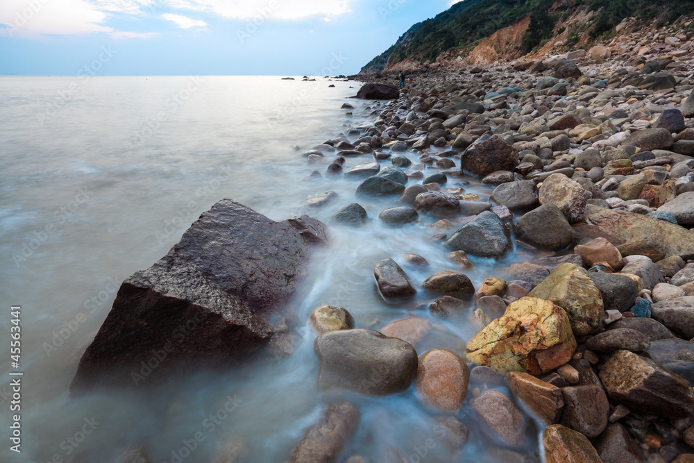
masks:
MULTIPOLYGON (((370 103, 349 100, 355 115, 348 117, 340 106, 358 83, 328 87, 321 78, 300 79, 0 78, 0 327, 2 339, 9 339, 10 305, 20 305, 24 371, 22 454, 10 452, 3 438, 0 460, 107 462, 143 444, 155 462, 215 462, 228 446, 242 448, 242 461, 284 462, 321 407, 338 397, 353 401, 362 414, 345 455, 378 462, 396 448, 410 462, 499 458, 488 455, 493 443, 478 432, 467 406, 459 416, 471 427, 471 439, 455 456, 437 440, 436 415, 421 405, 414 388, 386 398, 319 393, 314 335, 301 323, 292 331, 296 351, 282 362, 69 396, 78 361, 122 280, 160 259, 219 199, 283 219, 305 212, 299 204, 307 194, 333 190, 337 201, 310 212, 324 221, 356 201, 359 180, 309 179, 325 166, 307 165, 301 153, 366 123, 373 117, 366 115, 370 103), (229 398, 234 410, 210 426, 210 414, 229 398), (203 441, 182 451, 196 433, 203 441), (428 439, 433 448, 426 447, 428 439)), ((371 159, 350 159, 346 167, 371 159)), ((491 193, 475 183, 466 190, 482 199, 491 193)), ((376 217, 392 199, 358 201, 372 220, 359 230, 332 230, 330 245, 317 251, 293 303, 297 319, 307 321, 325 304, 347 308, 360 328, 416 315, 430 319, 435 333, 419 353, 434 347, 464 353, 476 331, 465 319, 432 319, 425 296, 404 306, 385 303, 373 283, 374 264, 400 260, 404 251, 432 264, 428 271, 409 271, 416 285, 434 271, 457 270, 441 246, 425 242, 433 232, 414 224, 382 226, 376 217)), ((495 267, 513 261, 475 260, 475 270, 466 273, 478 287, 495 267)), ((3 344, 8 352, 9 343, 3 344)), ((0 356, 0 371, 7 435, 9 355, 0 356)), ((535 432, 530 426, 521 453, 532 451, 535 432)))

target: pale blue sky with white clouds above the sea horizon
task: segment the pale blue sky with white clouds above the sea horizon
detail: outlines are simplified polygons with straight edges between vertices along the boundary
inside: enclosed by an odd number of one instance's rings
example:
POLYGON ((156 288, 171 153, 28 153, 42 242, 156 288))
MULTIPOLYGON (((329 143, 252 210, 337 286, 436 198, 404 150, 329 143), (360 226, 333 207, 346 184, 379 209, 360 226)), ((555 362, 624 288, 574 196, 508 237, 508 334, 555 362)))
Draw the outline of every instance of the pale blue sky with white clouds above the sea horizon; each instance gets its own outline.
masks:
POLYGON ((0 74, 356 74, 412 24, 451 4, 0 0, 0 74))

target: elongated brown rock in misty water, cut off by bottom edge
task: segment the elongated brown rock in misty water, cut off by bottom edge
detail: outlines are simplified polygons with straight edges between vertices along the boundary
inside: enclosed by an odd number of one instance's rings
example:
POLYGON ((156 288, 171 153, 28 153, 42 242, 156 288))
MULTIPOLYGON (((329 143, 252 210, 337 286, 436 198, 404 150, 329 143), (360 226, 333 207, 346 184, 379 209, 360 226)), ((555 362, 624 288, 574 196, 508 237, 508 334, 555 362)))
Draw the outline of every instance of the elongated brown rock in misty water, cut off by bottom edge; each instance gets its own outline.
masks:
POLYGON ((323 409, 321 419, 305 430, 291 452, 289 463, 337 462, 357 430, 358 422, 359 410, 351 403, 328 405, 323 409))

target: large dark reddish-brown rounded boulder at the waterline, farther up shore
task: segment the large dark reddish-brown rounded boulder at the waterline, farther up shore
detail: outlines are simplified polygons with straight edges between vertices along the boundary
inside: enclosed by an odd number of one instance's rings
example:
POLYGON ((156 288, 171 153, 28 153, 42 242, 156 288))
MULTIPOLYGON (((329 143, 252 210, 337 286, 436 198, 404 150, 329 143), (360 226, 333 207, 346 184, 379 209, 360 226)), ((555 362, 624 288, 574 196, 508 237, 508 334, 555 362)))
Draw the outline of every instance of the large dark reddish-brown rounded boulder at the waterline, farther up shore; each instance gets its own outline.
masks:
POLYGON ((518 151, 498 135, 486 133, 462 153, 460 167, 478 176, 494 171, 513 171, 518 165, 518 151))

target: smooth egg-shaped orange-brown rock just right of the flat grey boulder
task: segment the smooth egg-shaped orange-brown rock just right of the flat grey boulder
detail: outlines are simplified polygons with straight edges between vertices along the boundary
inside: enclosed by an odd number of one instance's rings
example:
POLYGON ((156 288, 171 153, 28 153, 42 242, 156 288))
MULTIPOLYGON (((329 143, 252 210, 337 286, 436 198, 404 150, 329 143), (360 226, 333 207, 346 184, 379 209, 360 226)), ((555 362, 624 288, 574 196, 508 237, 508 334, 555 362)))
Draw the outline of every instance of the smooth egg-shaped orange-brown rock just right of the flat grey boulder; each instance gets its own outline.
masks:
POLYGON ((455 413, 468 390, 468 365, 447 349, 432 349, 419 357, 415 387, 422 401, 434 410, 455 413))

